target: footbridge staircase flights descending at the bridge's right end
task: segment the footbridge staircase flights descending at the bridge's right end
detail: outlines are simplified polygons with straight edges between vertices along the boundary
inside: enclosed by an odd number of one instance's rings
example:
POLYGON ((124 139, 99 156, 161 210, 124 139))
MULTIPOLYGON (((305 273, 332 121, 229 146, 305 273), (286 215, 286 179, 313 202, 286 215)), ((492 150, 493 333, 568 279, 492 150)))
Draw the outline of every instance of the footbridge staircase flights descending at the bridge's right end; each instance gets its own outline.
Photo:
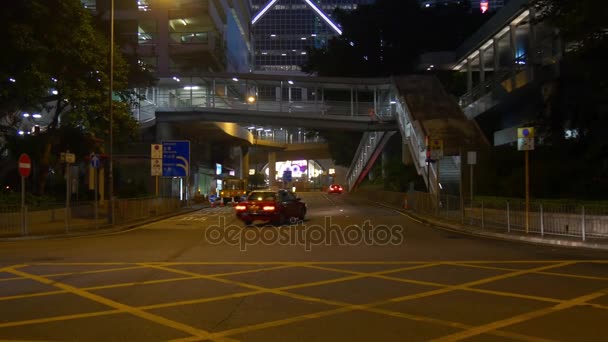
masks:
MULTIPOLYGON (((429 192, 458 193, 461 150, 487 144, 479 128, 434 77, 395 78, 390 94, 390 114, 429 192), (426 162, 427 136, 444 141, 444 157, 438 163, 426 162)), ((363 136, 347 173, 349 190, 357 187, 373 167, 390 133, 369 132, 363 136)))

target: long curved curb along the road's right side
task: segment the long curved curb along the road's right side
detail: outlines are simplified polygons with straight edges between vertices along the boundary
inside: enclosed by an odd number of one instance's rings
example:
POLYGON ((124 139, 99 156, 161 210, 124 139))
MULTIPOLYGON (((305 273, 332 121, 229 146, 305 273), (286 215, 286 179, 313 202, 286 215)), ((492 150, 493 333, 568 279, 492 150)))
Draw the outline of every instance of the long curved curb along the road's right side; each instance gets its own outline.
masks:
POLYGON ((602 244, 602 243, 593 243, 593 242, 584 242, 584 241, 572 241, 572 240, 559 239, 559 238, 553 238, 553 237, 547 238, 547 237, 540 237, 540 236, 522 236, 522 235, 509 234, 509 233, 484 231, 484 230, 480 230, 478 228, 472 228, 470 226, 463 226, 463 225, 458 225, 458 224, 454 224, 451 222, 441 221, 441 220, 438 220, 435 218, 430 218, 428 216, 416 214, 412 211, 394 207, 394 206, 387 205, 384 203, 374 202, 374 201, 369 201, 369 202, 399 211, 424 224, 428 224, 430 226, 433 226, 433 227, 436 227, 439 229, 449 230, 449 231, 453 231, 453 232, 457 232, 457 233, 461 233, 461 234, 478 236, 478 237, 489 238, 489 239, 497 239, 497 240, 503 240, 503 241, 534 244, 534 245, 608 251, 608 243, 602 244))

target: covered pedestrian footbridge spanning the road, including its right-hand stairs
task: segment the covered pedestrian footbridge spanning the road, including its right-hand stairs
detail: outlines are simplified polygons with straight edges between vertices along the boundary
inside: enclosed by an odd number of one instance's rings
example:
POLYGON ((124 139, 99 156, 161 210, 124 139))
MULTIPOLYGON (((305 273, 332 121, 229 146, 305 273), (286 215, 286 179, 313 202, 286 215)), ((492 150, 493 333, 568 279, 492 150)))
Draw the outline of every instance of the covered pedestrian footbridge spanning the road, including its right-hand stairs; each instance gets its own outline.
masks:
MULTIPOLYGON (((161 77, 138 89, 134 110, 142 124, 232 122, 365 132, 347 174, 355 188, 388 139, 401 135, 418 173, 437 190, 437 167, 426 163, 426 139, 442 139, 443 165, 459 169, 459 151, 483 144, 473 121, 431 76, 325 78, 288 75, 202 73, 161 77)), ((446 167, 447 166, 447 167, 446 167)), ((457 172, 456 172, 457 174, 457 172)), ((441 178, 441 172, 439 173, 441 178)), ((447 182, 450 179, 442 178, 447 182)))

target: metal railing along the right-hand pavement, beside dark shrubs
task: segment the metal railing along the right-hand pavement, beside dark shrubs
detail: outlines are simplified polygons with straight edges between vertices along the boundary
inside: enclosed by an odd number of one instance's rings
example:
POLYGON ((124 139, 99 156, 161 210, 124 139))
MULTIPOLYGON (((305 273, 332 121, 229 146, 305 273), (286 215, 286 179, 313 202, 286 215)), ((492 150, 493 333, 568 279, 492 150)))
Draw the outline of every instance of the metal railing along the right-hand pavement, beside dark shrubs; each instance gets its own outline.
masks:
POLYGON ((608 207, 600 205, 474 200, 461 202, 458 196, 437 196, 423 192, 408 194, 410 209, 420 214, 464 223, 483 230, 553 235, 581 239, 608 239, 608 207))

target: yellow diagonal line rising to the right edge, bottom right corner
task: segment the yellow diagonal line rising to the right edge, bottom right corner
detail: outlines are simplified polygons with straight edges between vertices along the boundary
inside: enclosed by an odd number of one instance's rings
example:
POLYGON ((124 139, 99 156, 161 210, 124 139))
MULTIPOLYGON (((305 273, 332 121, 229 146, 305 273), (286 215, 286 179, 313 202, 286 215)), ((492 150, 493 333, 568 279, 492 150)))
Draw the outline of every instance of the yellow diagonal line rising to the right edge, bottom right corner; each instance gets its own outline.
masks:
POLYGON ((549 307, 549 308, 540 309, 540 310, 536 310, 536 311, 532 311, 532 312, 527 312, 527 313, 513 316, 513 317, 510 317, 507 319, 480 325, 480 326, 477 326, 477 327, 474 327, 474 328, 471 328, 471 329, 468 329, 465 331, 461 331, 461 332, 458 332, 455 334, 451 334, 451 335, 444 336, 442 338, 435 339, 434 341, 436 341, 436 342, 460 341, 460 340, 463 340, 463 339, 466 339, 469 337, 488 333, 488 332, 494 331, 496 329, 504 328, 504 327, 507 327, 507 326, 510 326, 513 324, 529 321, 531 319, 538 318, 541 316, 546 316, 548 314, 551 314, 551 313, 554 313, 557 311, 565 310, 565 309, 571 308, 573 306, 577 306, 579 304, 585 303, 589 300, 602 297, 604 295, 606 295, 606 293, 604 293, 604 292, 594 292, 594 293, 591 293, 588 295, 584 295, 581 297, 577 297, 577 298, 574 298, 571 300, 564 301, 563 303, 557 304, 557 305, 549 307))

